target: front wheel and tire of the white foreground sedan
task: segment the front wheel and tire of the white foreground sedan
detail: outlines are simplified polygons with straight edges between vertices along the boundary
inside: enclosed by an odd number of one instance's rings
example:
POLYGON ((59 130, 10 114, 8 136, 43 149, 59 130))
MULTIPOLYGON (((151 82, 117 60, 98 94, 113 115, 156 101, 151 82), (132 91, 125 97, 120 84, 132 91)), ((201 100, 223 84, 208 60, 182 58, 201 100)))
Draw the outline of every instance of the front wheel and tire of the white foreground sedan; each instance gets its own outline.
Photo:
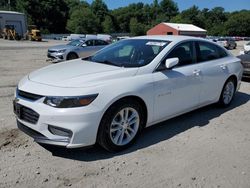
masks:
POLYGON ((110 152, 118 152, 133 144, 144 127, 143 109, 139 102, 123 99, 104 114, 97 142, 110 152))

